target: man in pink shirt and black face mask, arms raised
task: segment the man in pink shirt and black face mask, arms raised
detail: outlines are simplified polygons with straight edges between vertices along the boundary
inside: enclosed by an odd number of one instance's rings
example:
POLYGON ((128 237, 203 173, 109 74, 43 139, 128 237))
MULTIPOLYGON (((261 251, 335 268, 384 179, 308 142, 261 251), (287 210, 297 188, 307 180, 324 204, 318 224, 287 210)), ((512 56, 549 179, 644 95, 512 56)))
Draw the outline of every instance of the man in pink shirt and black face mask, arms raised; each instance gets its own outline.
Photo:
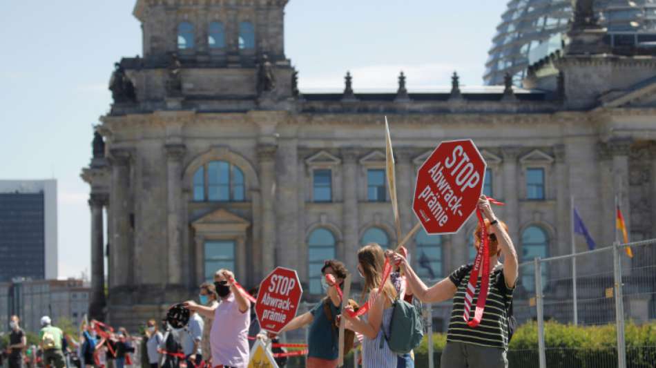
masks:
POLYGON ((217 306, 207 307, 193 300, 185 302, 184 306, 202 316, 214 317, 210 332, 214 367, 247 367, 251 302, 235 286, 235 275, 229 270, 216 271, 214 287, 221 298, 217 306))

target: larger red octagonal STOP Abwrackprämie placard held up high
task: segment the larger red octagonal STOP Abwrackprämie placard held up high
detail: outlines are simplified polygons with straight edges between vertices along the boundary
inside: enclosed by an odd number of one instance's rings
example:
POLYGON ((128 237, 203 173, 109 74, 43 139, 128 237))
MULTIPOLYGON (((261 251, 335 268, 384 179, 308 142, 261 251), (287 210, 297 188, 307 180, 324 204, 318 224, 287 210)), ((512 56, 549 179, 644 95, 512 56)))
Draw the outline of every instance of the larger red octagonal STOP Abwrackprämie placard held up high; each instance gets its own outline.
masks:
POLYGON ((483 190, 485 160, 471 139, 442 142, 417 173, 412 209, 426 233, 460 230, 483 190))

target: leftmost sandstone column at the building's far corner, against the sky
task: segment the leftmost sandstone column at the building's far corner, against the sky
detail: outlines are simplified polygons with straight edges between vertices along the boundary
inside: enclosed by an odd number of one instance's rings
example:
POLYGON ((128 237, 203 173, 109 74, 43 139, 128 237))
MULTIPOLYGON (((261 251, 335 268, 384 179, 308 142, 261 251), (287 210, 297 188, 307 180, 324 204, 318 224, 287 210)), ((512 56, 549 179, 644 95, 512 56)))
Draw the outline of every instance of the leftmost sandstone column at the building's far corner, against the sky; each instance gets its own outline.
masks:
POLYGON ((105 264, 103 244, 102 206, 107 202, 106 195, 91 194, 91 318, 104 320, 105 307, 105 264))

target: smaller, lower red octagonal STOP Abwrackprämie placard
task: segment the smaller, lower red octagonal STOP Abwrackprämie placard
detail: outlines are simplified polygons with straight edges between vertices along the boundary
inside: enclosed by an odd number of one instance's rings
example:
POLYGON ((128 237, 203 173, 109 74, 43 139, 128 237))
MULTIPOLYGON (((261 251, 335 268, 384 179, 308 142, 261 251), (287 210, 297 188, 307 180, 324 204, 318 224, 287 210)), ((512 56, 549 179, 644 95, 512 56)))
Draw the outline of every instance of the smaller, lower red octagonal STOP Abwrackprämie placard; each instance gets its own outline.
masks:
POLYGON ((279 333, 294 316, 302 296, 298 275, 293 269, 276 267, 260 282, 255 314, 260 327, 269 332, 279 333))

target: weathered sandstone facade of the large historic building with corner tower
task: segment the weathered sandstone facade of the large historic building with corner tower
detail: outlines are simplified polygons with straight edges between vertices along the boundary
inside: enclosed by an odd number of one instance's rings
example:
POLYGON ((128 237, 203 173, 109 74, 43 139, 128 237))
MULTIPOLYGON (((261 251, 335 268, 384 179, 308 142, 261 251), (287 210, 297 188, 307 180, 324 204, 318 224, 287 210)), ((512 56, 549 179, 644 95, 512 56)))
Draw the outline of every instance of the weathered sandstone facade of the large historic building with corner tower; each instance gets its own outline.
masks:
MULTIPOLYGON (((120 63, 137 99, 116 102, 102 117, 97 132, 104 139, 95 141, 83 173, 91 185, 95 316, 134 326, 195 295, 213 271, 204 269, 208 242, 234 245, 234 271, 244 285, 280 265, 296 269, 306 290, 314 230, 334 235, 336 258, 352 272, 367 229, 382 229, 394 244, 391 206, 369 201, 367 188, 367 170, 384 167, 384 115, 402 233, 416 223, 412 194, 423 159, 439 142, 466 137, 491 169, 492 195, 507 204, 496 212, 520 255, 528 226, 546 233, 548 255, 570 253, 570 195, 599 246, 612 243, 620 191, 633 239, 656 235, 655 57, 559 55, 532 70, 527 84, 534 88, 505 93, 459 88, 457 77, 452 93, 412 93, 405 80, 396 92, 358 93, 351 89, 357 76, 349 76, 345 93, 300 94, 282 44, 286 2, 137 1, 144 57, 120 63), (224 24, 220 50, 207 42, 213 19, 224 24), (176 50, 183 20, 195 26, 195 47, 176 50), (250 49, 239 48, 244 21, 255 29, 250 49), (548 68, 564 81, 555 82, 548 68), (261 88, 271 81, 274 88, 261 88), (216 161, 242 173, 239 200, 195 200, 195 174, 216 161), (529 168, 543 169, 543 199, 528 199, 529 168), (326 169, 331 198, 318 202, 313 173, 326 169), (108 308, 97 292, 104 237, 108 308)), ((441 276, 467 262, 474 220, 442 238, 441 276)), ((582 239, 576 247, 587 249, 582 239)), ((414 241, 409 249, 414 254, 414 241)))

